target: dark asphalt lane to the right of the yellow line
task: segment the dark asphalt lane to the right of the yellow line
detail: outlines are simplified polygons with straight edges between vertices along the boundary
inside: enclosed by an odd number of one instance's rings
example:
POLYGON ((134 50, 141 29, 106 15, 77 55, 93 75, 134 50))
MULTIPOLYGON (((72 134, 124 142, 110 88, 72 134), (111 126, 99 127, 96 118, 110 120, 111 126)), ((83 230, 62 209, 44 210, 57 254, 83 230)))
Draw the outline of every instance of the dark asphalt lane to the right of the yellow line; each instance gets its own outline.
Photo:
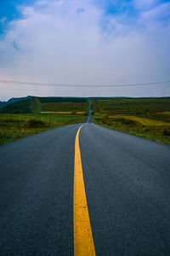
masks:
POLYGON ((80 133, 97 255, 170 255, 170 147, 94 124, 80 133))

